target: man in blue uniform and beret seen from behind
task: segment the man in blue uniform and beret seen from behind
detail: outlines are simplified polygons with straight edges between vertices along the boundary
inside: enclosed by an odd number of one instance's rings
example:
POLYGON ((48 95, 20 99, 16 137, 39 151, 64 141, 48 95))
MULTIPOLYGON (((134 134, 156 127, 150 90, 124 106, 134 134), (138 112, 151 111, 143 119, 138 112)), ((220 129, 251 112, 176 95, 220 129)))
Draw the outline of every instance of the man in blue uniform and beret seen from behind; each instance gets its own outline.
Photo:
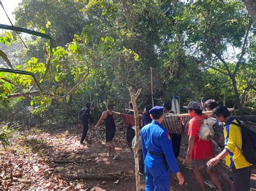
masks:
POLYGON ((164 107, 155 106, 150 112, 152 123, 140 131, 143 158, 145 161, 146 191, 170 190, 170 170, 177 175, 179 185, 184 177, 180 173, 172 150, 171 136, 161 126, 164 107))

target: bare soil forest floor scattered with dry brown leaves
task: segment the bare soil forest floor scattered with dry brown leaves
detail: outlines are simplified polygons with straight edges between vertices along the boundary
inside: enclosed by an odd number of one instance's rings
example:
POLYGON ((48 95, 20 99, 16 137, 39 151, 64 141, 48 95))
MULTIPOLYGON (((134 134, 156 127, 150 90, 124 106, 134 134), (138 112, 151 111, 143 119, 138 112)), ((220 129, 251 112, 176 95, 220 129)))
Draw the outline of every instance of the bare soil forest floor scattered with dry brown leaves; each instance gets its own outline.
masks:
MULTIPOLYGON (((256 130, 255 123, 249 126, 256 130)), ((81 132, 82 126, 78 125, 20 130, 11 140, 8 151, 0 152, 0 190, 136 190, 133 153, 126 145, 125 125, 117 125, 113 141, 121 155, 118 160, 106 156, 104 126, 89 129, 92 144, 79 144, 81 132)), ((187 136, 184 135, 181 159, 185 158, 186 144, 187 136)), ((185 164, 179 166, 185 183, 179 186, 172 175, 171 190, 199 190, 192 169, 185 164)), ((230 169, 224 168, 231 174, 230 169)), ((209 180, 205 172, 204 178, 209 180)), ((140 176, 140 180, 145 189, 145 176, 140 176)), ((221 183, 224 190, 229 190, 223 180, 221 183)), ((255 166, 252 168, 251 189, 256 190, 255 166)), ((213 189, 207 187, 207 190, 213 189)))

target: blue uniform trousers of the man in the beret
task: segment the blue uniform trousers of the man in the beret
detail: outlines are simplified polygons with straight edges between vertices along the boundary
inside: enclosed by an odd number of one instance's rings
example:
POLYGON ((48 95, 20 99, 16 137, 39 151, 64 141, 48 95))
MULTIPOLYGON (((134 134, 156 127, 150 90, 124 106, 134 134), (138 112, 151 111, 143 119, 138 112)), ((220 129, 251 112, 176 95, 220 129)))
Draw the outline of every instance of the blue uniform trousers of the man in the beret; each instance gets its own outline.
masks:
POLYGON ((170 172, 163 163, 147 165, 145 161, 146 191, 170 190, 170 172))

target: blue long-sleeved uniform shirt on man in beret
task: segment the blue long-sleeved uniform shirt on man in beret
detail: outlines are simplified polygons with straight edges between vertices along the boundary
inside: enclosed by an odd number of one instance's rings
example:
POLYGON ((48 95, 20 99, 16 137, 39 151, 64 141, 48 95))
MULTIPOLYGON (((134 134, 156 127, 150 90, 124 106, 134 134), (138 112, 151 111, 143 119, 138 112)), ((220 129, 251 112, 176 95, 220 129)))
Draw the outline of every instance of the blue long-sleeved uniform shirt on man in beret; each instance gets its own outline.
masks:
POLYGON ((171 171, 174 174, 180 172, 172 150, 172 141, 169 132, 164 129, 160 123, 152 121, 152 123, 144 126, 144 128, 140 131, 140 137, 145 163, 150 162, 153 166, 156 166, 157 164, 159 164, 159 161, 163 161, 163 157, 159 157, 156 155, 151 155, 150 160, 146 160, 147 155, 149 155, 147 151, 159 154, 164 153, 167 164, 171 171))

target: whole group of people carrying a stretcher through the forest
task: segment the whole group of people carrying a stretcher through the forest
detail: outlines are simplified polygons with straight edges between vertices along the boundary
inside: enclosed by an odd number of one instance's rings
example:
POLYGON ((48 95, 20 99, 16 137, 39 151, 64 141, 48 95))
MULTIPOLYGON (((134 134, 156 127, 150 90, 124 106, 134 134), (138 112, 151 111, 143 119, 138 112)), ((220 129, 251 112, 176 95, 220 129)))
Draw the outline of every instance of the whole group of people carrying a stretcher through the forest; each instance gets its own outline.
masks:
MULTIPOLYGON (((242 138, 239 122, 230 116, 230 112, 226 107, 218 105, 214 100, 202 100, 201 104, 202 107, 197 102, 190 102, 184 107, 192 117, 188 123, 189 138, 185 162, 192 167, 200 190, 206 190, 206 181, 204 181, 201 174, 202 169, 205 169, 207 174, 210 175, 211 181, 208 182, 212 182, 213 186, 217 187, 218 190, 223 190, 219 177, 224 179, 230 190, 250 190, 252 164, 246 161, 241 153, 242 138), (209 117, 203 114, 203 110, 213 110, 212 117, 218 120, 217 124, 213 126, 215 137, 210 141, 200 139, 198 136, 204 119, 209 117), (234 122, 234 124, 229 122, 234 122), (223 148, 223 151, 221 151, 221 148, 223 148), (223 158, 226 158, 226 165, 232 168, 232 180, 219 165, 219 161, 223 158)), ((133 109, 131 103, 129 103, 129 107, 133 109)), ((90 107, 87 109, 90 114, 90 107)), ((181 135, 169 133, 161 125, 164 115, 171 112, 171 103, 165 103, 163 107, 155 106, 153 108, 147 105, 143 112, 142 129, 140 129, 141 151, 143 154, 139 164, 140 174, 145 173, 146 190, 169 190, 170 170, 176 174, 179 185, 184 183, 184 176, 181 174, 177 162, 181 135)), ((128 111, 127 114, 133 115, 133 112, 128 111)), ((88 115, 87 118, 89 119, 91 116, 88 115)), ((103 120, 105 121, 106 142, 109 144, 107 155, 111 156, 111 152, 113 152, 113 159, 119 158, 119 154, 116 152, 112 142, 116 132, 114 123, 116 118, 117 114, 113 112, 113 104, 109 103, 107 104, 107 110, 102 113, 98 123, 95 125, 97 127, 103 120)), ((80 139, 81 144, 86 140, 88 119, 84 123, 80 139)), ((132 127, 127 126, 126 139, 131 151, 131 142, 134 136, 135 132, 132 127)))

